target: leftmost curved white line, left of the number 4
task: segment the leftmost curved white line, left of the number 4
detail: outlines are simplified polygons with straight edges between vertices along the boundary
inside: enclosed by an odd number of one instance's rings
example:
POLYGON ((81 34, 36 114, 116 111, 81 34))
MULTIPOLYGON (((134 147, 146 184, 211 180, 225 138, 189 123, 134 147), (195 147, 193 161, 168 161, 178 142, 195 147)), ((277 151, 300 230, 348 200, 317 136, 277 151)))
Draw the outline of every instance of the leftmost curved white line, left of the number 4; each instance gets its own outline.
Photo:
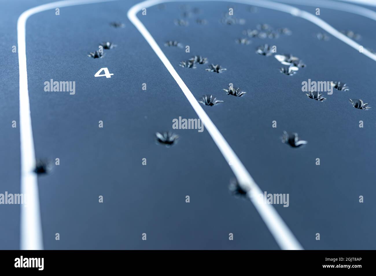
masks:
POLYGON ((35 150, 30 117, 29 90, 26 68, 26 20, 31 15, 57 7, 67 7, 118 0, 68 0, 48 3, 24 11, 17 21, 18 64, 20 71, 20 142, 21 142, 21 193, 27 204, 21 205, 21 250, 43 249, 42 224, 39 209, 38 179, 35 168, 35 150))

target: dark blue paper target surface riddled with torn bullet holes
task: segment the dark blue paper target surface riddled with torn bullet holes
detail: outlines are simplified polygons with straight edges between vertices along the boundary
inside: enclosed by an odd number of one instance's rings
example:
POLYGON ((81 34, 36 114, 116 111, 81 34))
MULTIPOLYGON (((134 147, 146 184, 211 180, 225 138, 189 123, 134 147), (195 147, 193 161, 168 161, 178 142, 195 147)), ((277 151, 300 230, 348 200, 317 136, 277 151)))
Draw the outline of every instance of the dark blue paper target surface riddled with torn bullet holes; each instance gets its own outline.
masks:
MULTIPOLYGON (((253 205, 229 194, 232 171, 206 129, 202 133, 174 130, 180 139, 171 148, 155 144, 154 133, 170 130, 173 118, 197 115, 127 20, 134 3, 65 7, 59 16, 49 10, 27 21, 36 156, 59 157, 61 164, 52 174, 38 178, 45 249, 278 249, 253 205), (121 21, 126 27, 111 28, 111 21, 121 21), (107 40, 117 47, 105 50, 104 58, 86 56, 107 40), (114 75, 94 78, 102 67, 114 75), (76 81, 76 95, 44 92, 44 81, 51 78, 76 81), (147 83, 146 91, 141 90, 143 83, 147 83), (98 127, 99 120, 104 122, 103 129, 98 127), (144 157, 146 166, 141 164, 144 157), (103 203, 98 203, 99 195, 104 196, 103 203), (189 204, 186 195, 190 195, 189 204), (55 240, 55 233, 60 233, 60 241, 55 240), (147 241, 141 240, 142 233, 147 233, 147 241), (228 240, 229 233, 234 234, 233 241, 228 240)), ((247 5, 232 3, 189 3, 189 8, 199 7, 200 13, 187 19, 188 27, 182 27, 174 24, 182 18, 181 5, 150 7, 139 18, 197 99, 212 94, 224 101, 204 109, 263 191, 290 194, 288 208, 274 207, 302 246, 376 248, 371 198, 376 192, 374 109, 357 110, 348 102, 360 98, 375 106, 376 63, 335 37, 327 42, 316 39, 314 34, 323 30, 287 13, 263 8, 250 13, 247 5), (220 23, 228 7, 234 7, 234 15, 246 24, 220 23), (208 24, 197 25, 196 17, 208 24), (244 37, 243 30, 260 23, 288 27, 293 34, 250 39, 250 45, 235 43, 244 37), (165 47, 167 40, 190 45, 190 53, 185 48, 165 47), (301 58, 306 68, 291 77, 281 74, 273 56, 255 53, 264 43, 276 45, 277 54, 301 58), (215 74, 205 71, 207 65, 179 66, 196 54, 227 71, 215 74), (333 95, 324 95, 326 101, 313 101, 301 90, 308 78, 341 80, 350 91, 335 90, 333 95), (226 95, 222 89, 228 83, 247 94, 241 98, 226 95), (276 129, 271 127, 273 120, 276 129), (358 127, 359 120, 364 121, 364 128, 358 127), (282 144, 283 130, 298 132, 308 145, 294 149, 282 144), (320 166, 315 165, 317 157, 320 166), (359 195, 365 196, 364 203, 358 202, 359 195), (316 233, 320 241, 315 240, 316 233)), ((29 8, 23 6, 12 13, 6 42, 2 42, 9 48, 8 54, 2 54, 4 67, 12 73, 2 71, 6 78, 0 80, 6 86, 1 101, 1 147, 7 153, 0 164, 4 175, 0 192, 19 192, 19 129, 11 128, 11 121, 18 121, 18 57, 9 44, 17 42, 17 18, 29 8)), ((299 8, 314 12, 313 7, 299 8)), ((359 43, 376 48, 375 21, 326 9, 321 9, 320 16, 338 30, 360 33, 359 43)), ((0 215, 12 223, 0 232, 6 237, 0 248, 17 249, 19 207, 4 207, 0 206, 0 215)))

